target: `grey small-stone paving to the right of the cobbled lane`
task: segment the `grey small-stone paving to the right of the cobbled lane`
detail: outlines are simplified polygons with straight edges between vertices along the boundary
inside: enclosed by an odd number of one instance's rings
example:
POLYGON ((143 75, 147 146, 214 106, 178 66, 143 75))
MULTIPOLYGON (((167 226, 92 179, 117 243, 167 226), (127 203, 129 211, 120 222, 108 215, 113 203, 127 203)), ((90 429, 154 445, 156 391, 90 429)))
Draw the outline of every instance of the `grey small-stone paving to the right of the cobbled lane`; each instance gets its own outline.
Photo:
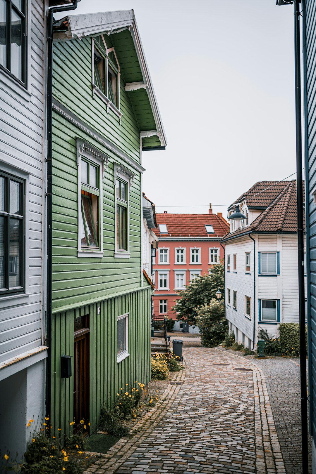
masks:
MULTIPOLYGON (((299 359, 256 359, 265 374, 271 409, 287 474, 302 473, 299 359), (282 376, 280 376, 282 374, 282 376)), ((311 439, 309 462, 311 472, 311 439)))

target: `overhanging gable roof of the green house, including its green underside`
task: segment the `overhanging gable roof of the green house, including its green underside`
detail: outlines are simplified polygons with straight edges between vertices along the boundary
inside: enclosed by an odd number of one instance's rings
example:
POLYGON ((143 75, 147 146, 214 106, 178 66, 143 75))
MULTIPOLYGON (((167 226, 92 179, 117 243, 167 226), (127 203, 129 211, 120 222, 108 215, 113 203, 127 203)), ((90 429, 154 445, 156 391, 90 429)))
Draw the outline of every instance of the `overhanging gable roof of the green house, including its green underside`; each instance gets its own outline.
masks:
POLYGON ((118 62, 124 73, 140 128, 143 151, 162 148, 167 137, 153 90, 144 48, 139 36, 134 10, 117 10, 84 15, 68 15, 54 22, 54 40, 82 39, 85 36, 111 35, 118 62))

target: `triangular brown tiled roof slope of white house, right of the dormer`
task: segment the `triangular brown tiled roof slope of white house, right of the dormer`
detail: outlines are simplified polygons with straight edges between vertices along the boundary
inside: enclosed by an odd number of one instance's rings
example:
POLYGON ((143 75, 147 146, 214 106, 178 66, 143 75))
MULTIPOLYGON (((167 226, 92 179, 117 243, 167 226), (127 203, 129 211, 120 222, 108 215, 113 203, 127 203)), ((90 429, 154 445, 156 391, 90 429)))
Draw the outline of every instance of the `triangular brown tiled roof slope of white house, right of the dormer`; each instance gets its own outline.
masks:
POLYGON ((222 242, 250 232, 297 232, 296 180, 287 182, 275 200, 249 226, 231 232, 223 238, 222 242))

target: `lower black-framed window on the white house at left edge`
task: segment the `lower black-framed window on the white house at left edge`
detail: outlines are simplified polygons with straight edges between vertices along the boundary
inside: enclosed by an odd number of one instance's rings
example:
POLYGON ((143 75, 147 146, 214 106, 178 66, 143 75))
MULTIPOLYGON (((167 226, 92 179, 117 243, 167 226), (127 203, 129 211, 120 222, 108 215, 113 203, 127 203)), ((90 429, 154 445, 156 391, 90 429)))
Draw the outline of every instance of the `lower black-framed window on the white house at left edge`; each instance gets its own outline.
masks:
POLYGON ((24 288, 25 182, 0 173, 0 294, 24 288))

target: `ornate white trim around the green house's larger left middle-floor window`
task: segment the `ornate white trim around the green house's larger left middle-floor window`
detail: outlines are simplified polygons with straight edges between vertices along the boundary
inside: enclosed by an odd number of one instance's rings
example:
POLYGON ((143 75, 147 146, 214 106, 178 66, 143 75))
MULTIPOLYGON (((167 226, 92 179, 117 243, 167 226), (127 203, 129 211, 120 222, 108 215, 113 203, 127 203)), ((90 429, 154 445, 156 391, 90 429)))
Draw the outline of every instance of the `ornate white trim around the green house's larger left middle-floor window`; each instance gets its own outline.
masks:
POLYGON ((102 153, 100 150, 90 145, 90 143, 82 140, 81 138, 76 138, 77 140, 77 166, 78 166, 78 249, 77 257, 93 257, 93 258, 102 258, 103 257, 103 219, 102 219, 102 189, 103 189, 103 178, 105 169, 107 170, 108 157, 102 153), (88 250, 81 248, 81 219, 79 214, 81 212, 81 157, 84 156, 88 160, 95 163, 100 169, 100 205, 99 205, 99 228, 100 228, 100 245, 98 250, 88 250))

